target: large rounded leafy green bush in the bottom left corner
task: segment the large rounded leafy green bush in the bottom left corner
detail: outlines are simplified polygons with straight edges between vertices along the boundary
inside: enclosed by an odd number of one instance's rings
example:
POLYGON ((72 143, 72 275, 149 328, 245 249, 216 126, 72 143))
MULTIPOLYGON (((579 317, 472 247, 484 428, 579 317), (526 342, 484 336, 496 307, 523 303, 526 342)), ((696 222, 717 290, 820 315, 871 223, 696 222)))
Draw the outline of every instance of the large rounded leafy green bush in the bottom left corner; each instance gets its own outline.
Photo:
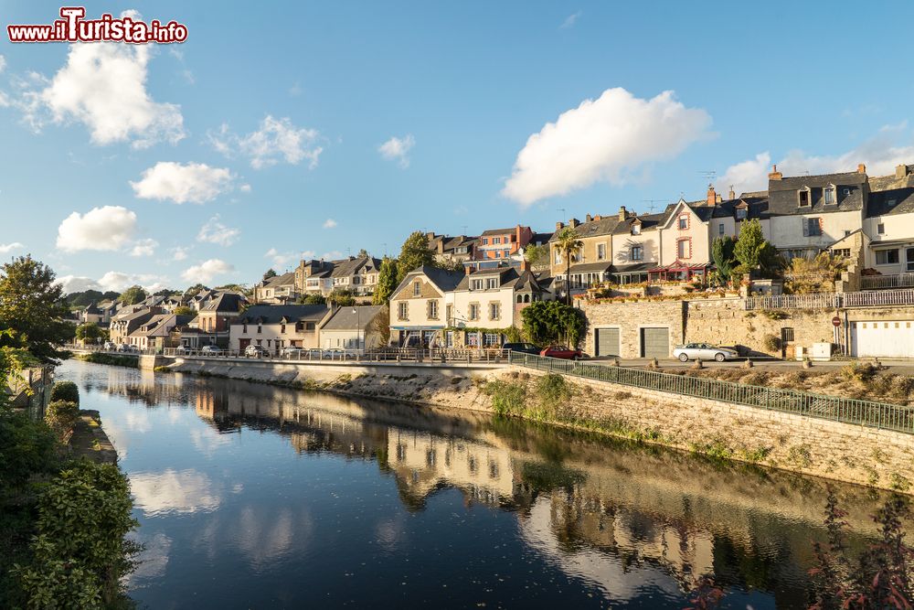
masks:
POLYGON ((124 600, 137 527, 127 477, 117 466, 82 460, 52 479, 38 498, 31 561, 16 565, 27 607, 112 607, 124 600))

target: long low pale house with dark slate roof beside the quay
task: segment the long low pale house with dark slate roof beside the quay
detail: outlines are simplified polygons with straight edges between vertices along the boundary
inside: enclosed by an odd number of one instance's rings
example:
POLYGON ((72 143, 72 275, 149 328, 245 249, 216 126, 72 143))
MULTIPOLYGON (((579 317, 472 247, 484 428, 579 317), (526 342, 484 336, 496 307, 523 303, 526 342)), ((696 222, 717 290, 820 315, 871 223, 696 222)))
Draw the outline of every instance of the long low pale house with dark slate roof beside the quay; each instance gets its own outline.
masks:
POLYGON ((326 305, 252 305, 228 326, 228 348, 258 345, 271 354, 282 348, 320 348, 320 327, 333 310, 326 305))

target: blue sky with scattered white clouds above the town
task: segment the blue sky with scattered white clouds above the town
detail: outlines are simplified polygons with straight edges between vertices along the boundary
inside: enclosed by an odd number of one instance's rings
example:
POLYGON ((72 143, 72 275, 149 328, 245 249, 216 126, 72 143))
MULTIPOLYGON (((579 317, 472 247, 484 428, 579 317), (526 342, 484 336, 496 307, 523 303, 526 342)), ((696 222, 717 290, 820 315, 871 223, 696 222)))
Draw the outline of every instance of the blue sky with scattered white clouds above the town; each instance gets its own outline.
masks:
MULTIPOLYGON (((252 283, 415 229, 704 198, 710 170, 739 191, 770 163, 914 163, 909 3, 250 6, 86 5, 180 21, 181 45, 4 31, 0 255, 74 289, 252 283)), ((58 8, 4 0, 0 23, 58 8)))

